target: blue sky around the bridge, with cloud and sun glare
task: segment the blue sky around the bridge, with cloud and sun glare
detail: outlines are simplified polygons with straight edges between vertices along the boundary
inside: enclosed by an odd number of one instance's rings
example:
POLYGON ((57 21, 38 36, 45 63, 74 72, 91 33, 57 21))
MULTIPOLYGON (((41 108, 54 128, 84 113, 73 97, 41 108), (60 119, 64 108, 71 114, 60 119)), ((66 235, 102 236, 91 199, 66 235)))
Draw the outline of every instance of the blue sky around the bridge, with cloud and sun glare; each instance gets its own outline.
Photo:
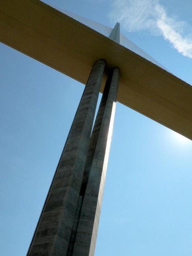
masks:
MULTIPOLYGON (((190 0, 46 0, 192 84, 190 0), (121 8, 119 9, 118 6, 121 8)), ((25 255, 84 85, 0 44, 1 254, 25 255)), ((192 142, 119 103, 95 256, 192 255, 192 142)))

